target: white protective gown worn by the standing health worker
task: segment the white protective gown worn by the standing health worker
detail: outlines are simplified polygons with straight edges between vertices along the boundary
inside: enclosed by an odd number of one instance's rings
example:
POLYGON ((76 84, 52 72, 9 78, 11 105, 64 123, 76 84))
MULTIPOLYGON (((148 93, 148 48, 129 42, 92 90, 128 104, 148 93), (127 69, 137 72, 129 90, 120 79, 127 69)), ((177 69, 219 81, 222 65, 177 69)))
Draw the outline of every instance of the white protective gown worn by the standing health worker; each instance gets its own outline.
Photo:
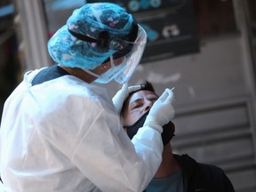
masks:
POLYGON ((161 162, 161 134, 132 142, 105 88, 75 76, 32 86, 24 76, 4 104, 1 177, 5 191, 142 191, 161 162), (133 145, 132 145, 133 143, 133 145))

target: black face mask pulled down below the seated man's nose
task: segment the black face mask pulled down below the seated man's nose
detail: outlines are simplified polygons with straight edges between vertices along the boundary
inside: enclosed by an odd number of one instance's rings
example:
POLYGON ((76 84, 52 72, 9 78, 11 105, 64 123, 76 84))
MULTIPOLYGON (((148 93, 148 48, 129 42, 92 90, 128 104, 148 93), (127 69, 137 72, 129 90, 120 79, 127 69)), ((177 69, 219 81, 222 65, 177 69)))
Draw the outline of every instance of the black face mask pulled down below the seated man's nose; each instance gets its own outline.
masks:
MULTIPOLYGON (((133 136, 138 132, 138 130, 143 126, 148 113, 145 113, 143 116, 140 117, 140 119, 135 123, 132 124, 131 126, 124 126, 124 128, 127 131, 127 134, 129 138, 132 140, 133 136)), ((172 140, 172 137, 174 136, 174 124, 170 121, 168 124, 164 124, 163 126, 163 132, 162 132, 162 140, 164 146, 172 140)))

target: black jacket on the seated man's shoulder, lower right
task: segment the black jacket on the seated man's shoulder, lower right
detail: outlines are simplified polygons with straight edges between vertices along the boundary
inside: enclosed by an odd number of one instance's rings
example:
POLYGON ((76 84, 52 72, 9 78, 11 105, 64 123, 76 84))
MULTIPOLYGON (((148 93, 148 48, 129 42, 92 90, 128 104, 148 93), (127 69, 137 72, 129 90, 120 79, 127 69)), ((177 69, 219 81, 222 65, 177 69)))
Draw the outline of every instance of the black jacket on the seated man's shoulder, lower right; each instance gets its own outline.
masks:
POLYGON ((188 155, 174 155, 183 176, 184 192, 235 192, 220 167, 200 164, 188 155))

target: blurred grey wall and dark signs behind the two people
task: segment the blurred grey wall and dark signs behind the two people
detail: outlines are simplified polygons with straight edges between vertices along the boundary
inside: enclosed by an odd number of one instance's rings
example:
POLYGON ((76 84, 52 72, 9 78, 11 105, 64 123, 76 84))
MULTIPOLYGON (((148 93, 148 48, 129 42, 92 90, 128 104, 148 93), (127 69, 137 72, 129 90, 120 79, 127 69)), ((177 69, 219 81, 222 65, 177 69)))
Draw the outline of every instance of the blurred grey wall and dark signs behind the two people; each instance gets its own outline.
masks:
MULTIPOLYGON (((86 2, 98 1, 1 0, 0 115, 25 71, 53 64, 49 37, 86 2)), ((148 80, 158 94, 175 87, 174 151, 219 165, 237 192, 255 192, 256 1, 106 2, 124 6, 148 34, 131 84, 148 80)))

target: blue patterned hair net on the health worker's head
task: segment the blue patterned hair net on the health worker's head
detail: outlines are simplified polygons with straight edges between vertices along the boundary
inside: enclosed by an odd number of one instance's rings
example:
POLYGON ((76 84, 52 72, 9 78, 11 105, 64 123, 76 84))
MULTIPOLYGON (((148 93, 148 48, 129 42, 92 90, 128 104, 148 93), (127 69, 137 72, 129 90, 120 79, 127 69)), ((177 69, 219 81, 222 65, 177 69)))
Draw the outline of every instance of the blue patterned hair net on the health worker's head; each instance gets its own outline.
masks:
POLYGON ((52 60, 60 66, 70 68, 93 69, 100 66, 116 51, 103 49, 96 43, 84 42, 72 36, 68 29, 94 39, 100 32, 108 31, 110 37, 129 39, 134 22, 132 15, 117 4, 84 4, 68 18, 66 25, 60 28, 49 40, 48 51, 52 60))

